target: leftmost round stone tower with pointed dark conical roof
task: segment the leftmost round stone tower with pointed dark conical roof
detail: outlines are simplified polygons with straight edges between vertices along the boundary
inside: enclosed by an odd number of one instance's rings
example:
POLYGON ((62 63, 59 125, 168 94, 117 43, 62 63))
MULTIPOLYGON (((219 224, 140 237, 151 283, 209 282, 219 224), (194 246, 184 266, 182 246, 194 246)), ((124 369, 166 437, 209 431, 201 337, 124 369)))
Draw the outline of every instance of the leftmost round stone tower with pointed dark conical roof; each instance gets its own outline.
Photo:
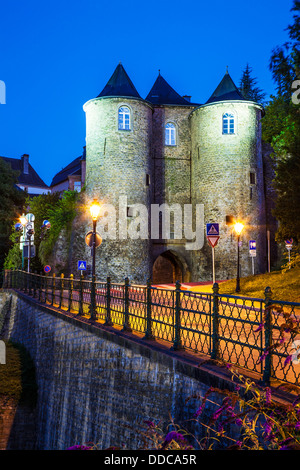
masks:
POLYGON ((87 196, 110 205, 110 215, 102 215, 112 216, 106 227, 105 217, 98 222, 103 242, 97 248, 97 276, 145 283, 152 266, 151 241, 148 236, 130 238, 127 227, 134 215, 132 204, 150 205, 152 108, 119 64, 102 92, 85 103, 84 111, 87 196))

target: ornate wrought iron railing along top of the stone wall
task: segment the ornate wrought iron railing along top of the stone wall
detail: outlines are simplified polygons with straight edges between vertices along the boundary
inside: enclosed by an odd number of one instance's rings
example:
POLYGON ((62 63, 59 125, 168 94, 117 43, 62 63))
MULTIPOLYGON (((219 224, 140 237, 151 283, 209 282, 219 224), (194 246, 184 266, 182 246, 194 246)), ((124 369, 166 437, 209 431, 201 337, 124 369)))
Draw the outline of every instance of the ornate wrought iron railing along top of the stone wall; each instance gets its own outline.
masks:
POLYGON ((82 276, 65 278, 24 271, 6 271, 4 288, 15 288, 42 303, 92 318, 96 322, 132 331, 144 339, 170 344, 172 349, 226 361, 258 373, 263 383, 271 380, 300 385, 297 329, 300 303, 272 300, 270 288, 265 299, 239 297, 147 285, 95 282, 82 276), (92 299, 92 295, 95 298, 92 299), (286 322, 293 322, 294 334, 276 348, 286 322), (291 356, 293 360, 291 359, 291 356))

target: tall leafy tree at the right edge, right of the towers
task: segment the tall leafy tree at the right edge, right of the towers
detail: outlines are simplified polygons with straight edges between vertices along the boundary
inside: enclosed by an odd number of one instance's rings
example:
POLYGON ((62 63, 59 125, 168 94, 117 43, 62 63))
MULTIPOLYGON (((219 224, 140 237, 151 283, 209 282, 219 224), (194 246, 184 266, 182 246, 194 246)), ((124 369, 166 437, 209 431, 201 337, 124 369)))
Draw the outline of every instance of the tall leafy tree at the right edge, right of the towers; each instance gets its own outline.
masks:
POLYGON ((288 26, 289 41, 272 51, 270 70, 276 96, 265 108, 262 136, 273 147, 276 193, 274 216, 279 222, 278 242, 286 238, 300 241, 300 103, 292 100, 293 81, 300 65, 300 1, 294 0, 294 23, 288 26))

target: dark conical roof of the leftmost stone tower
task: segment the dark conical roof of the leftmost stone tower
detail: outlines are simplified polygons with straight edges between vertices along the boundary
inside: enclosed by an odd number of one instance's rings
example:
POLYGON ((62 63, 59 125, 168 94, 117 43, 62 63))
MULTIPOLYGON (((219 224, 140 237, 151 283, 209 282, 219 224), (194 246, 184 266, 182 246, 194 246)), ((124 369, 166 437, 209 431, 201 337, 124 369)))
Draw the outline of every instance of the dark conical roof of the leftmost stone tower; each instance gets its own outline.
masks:
POLYGON ((102 96, 141 98, 121 62, 117 65, 114 73, 97 98, 102 96))

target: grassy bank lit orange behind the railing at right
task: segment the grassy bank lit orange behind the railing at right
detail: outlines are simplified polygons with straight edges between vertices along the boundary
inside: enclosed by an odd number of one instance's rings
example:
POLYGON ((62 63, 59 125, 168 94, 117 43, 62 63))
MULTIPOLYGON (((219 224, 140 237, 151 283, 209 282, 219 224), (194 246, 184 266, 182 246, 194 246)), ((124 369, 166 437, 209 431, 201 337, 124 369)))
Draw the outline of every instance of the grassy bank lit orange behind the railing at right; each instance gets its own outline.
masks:
POLYGON ((246 297, 265 297, 265 288, 271 287, 274 300, 300 302, 300 267, 282 271, 257 274, 243 277, 240 280, 241 291, 235 292, 236 280, 231 279, 219 284, 221 294, 231 294, 246 297))

